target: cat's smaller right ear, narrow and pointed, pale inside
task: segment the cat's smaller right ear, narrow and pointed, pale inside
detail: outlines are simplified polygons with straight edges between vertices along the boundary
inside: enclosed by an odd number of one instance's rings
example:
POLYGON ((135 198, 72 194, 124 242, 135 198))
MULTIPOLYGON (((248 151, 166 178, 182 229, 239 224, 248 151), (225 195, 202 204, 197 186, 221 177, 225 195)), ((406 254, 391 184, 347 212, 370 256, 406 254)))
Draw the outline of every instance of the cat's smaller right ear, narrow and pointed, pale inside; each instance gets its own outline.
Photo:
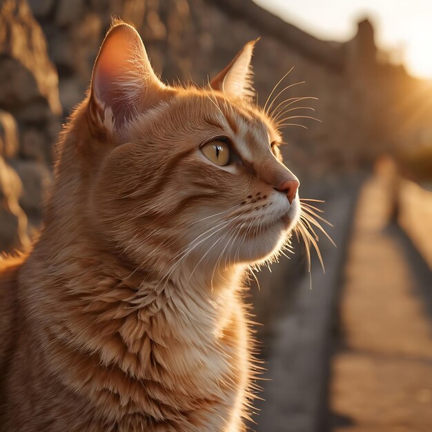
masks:
POLYGON ((219 74, 210 81, 211 88, 230 97, 251 100, 255 96, 251 59, 255 41, 250 41, 219 74))

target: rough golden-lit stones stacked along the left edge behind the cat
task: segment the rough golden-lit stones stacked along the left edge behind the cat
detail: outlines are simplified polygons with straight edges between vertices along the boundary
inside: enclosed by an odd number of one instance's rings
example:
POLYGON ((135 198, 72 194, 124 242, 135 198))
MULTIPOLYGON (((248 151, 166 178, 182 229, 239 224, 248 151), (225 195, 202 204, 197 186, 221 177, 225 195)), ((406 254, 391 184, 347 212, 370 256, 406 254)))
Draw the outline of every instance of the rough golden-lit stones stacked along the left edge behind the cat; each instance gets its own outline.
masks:
POLYGON ((26 1, 0 1, 1 250, 26 246, 28 217, 40 222, 60 114, 57 70, 41 27, 26 1))

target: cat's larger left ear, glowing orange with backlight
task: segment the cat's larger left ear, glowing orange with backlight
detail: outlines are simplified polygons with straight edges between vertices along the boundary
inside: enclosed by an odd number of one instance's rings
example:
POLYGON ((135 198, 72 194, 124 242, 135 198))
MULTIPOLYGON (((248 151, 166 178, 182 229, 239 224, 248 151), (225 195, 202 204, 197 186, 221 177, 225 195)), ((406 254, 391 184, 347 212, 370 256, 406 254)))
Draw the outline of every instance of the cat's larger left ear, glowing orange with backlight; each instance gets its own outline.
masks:
POLYGON ((115 24, 108 30, 92 72, 92 126, 118 132, 138 112, 156 104, 164 88, 137 30, 123 22, 115 24))

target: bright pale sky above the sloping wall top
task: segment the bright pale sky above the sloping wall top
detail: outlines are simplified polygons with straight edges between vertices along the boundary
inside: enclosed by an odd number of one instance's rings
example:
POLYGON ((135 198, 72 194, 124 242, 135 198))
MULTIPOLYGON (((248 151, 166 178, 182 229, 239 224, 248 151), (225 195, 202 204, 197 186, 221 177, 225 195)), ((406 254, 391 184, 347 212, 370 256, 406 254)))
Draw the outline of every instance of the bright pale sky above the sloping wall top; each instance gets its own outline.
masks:
POLYGON ((254 0, 320 39, 347 41, 369 17, 375 42, 415 77, 432 79, 432 0, 254 0))

